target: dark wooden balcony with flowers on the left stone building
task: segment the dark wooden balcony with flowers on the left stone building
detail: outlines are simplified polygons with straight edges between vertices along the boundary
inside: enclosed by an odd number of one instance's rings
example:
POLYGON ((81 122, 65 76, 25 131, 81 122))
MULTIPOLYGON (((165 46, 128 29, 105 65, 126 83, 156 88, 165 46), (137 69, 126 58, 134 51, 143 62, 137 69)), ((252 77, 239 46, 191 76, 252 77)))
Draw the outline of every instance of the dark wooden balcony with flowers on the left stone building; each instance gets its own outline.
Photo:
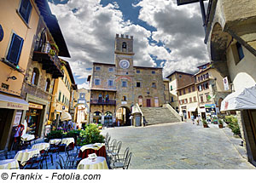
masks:
POLYGON ((57 54, 49 54, 49 43, 41 44, 36 43, 32 60, 38 61, 43 64, 43 70, 46 73, 52 74, 53 78, 63 77, 63 71, 61 71, 61 60, 59 60, 57 54))

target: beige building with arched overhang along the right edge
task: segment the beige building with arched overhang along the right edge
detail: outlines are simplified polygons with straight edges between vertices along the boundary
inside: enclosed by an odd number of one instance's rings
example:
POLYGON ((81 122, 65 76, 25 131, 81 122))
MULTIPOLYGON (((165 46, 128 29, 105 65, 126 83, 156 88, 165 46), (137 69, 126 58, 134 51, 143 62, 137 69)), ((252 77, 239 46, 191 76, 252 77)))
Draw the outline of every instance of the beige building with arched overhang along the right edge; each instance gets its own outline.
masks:
MULTIPOLYGON (((232 84, 233 100, 244 89, 253 92, 252 87, 256 84, 255 7, 255 0, 210 0, 207 9, 205 43, 212 66, 223 77, 228 77, 232 84)), ((225 111, 230 110, 232 100, 228 99, 224 99, 225 111)), ((235 107, 232 110, 237 110, 240 116, 248 159, 256 165, 256 107, 252 103, 248 103, 246 108, 235 107)))

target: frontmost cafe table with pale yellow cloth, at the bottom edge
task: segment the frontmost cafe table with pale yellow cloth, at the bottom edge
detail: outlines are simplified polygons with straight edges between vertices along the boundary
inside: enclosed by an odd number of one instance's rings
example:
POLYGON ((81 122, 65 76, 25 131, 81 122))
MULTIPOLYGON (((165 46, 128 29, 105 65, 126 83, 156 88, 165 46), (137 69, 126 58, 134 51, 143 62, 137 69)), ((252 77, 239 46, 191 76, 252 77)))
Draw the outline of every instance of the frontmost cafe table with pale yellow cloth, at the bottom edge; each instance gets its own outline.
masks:
POLYGON ((96 157, 94 161, 85 158, 80 161, 78 169, 108 169, 108 164, 105 157, 96 157))

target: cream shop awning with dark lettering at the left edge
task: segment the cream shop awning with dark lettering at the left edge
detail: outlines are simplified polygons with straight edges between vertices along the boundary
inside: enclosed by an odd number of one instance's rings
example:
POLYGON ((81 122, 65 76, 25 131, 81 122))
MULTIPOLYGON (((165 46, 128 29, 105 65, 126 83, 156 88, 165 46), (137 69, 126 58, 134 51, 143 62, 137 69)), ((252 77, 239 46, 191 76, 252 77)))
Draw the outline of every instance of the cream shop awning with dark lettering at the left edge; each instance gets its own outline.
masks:
POLYGON ((26 100, 0 94, 0 108, 28 110, 28 106, 26 100))

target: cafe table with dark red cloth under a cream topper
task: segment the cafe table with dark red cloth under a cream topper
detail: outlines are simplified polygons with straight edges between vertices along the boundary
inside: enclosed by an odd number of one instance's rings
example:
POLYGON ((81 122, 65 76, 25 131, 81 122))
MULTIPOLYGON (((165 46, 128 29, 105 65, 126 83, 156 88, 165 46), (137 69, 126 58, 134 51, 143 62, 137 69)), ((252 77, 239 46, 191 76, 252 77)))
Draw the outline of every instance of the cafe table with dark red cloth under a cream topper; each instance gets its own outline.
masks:
POLYGON ((95 143, 82 146, 79 151, 79 157, 84 159, 92 153, 96 153, 96 155, 99 157, 107 157, 105 145, 103 143, 95 143))

